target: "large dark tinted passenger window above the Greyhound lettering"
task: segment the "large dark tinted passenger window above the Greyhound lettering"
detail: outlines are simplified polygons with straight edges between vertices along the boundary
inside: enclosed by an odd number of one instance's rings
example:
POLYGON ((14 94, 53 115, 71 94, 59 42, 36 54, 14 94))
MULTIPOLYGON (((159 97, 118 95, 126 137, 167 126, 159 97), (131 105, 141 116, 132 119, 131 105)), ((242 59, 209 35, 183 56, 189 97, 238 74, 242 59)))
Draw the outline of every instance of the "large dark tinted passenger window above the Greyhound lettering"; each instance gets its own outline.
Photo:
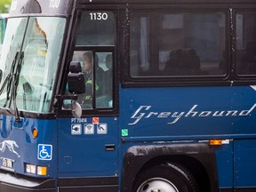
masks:
POLYGON ((225 76, 225 13, 132 12, 130 75, 225 76))

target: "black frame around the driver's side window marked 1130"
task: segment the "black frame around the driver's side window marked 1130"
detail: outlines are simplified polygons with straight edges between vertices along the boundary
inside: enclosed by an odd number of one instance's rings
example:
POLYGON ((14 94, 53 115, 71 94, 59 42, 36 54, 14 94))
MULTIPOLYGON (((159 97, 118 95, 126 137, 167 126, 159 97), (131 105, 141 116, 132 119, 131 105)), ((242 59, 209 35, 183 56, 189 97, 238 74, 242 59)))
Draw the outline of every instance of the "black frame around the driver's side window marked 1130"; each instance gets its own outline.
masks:
MULTIPOLYGON (((67 80, 68 80, 68 66, 70 64, 70 62, 73 59, 73 53, 77 52, 77 51, 90 51, 93 52, 93 55, 95 55, 95 52, 112 52, 113 54, 113 90, 112 90, 112 95, 113 95, 113 107, 112 108, 96 108, 96 94, 93 95, 93 103, 92 103, 92 108, 82 108, 83 110, 83 116, 117 116, 118 112, 119 112, 119 104, 118 104, 118 86, 116 84, 117 82, 117 50, 119 45, 117 44, 117 20, 118 20, 118 13, 116 10, 114 10, 113 8, 109 8, 109 6, 100 6, 100 9, 95 9, 95 7, 92 7, 92 5, 88 5, 86 6, 86 8, 82 7, 77 7, 76 9, 76 14, 75 14, 75 26, 73 26, 72 31, 71 31, 71 38, 72 38, 72 43, 70 45, 70 50, 68 53, 68 60, 66 63, 67 68, 66 73, 65 73, 65 80, 63 81, 62 84, 62 95, 65 94, 65 88, 66 88, 66 84, 67 84, 67 80), (78 28, 80 25, 80 21, 82 20, 82 14, 83 12, 113 12, 114 16, 115 16, 115 37, 114 37, 114 45, 76 45, 76 39, 77 39, 77 32, 78 32, 78 28)), ((94 61, 93 61, 94 62, 94 61)), ((93 65, 93 84, 95 84, 96 78, 95 77, 95 65, 93 65)), ((85 91, 86 92, 86 91, 85 91)), ((93 92, 95 92, 95 86, 93 86, 93 92)), ((62 104, 61 104, 62 106, 62 104)), ((61 108, 60 116, 72 116, 71 114, 71 109, 70 108, 61 108)))

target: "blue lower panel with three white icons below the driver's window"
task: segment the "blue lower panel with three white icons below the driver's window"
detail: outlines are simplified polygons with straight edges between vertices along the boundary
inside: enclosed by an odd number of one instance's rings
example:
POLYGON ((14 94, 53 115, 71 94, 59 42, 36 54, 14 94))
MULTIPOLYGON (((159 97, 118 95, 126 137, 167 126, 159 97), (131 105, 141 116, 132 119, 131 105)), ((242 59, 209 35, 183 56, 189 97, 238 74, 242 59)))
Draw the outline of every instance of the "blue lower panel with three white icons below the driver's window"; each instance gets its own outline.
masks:
POLYGON ((63 118, 59 124, 60 177, 117 174, 117 118, 63 118))

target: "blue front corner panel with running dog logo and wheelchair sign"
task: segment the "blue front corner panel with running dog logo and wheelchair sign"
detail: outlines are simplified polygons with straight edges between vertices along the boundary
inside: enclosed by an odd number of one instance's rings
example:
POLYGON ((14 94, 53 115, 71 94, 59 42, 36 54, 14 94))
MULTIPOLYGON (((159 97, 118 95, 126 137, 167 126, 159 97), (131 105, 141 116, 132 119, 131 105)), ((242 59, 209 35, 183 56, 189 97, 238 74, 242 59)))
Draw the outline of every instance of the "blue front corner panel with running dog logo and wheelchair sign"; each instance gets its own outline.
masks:
MULTIPOLYGON (((57 177, 56 120, 21 118, 21 123, 19 124, 15 122, 14 116, 1 115, 0 119, 1 169, 4 169, 4 159, 10 159, 13 161, 13 167, 11 170, 7 169, 9 171, 24 174, 25 163, 36 164, 48 167, 47 177, 57 177), (36 139, 32 136, 34 128, 38 130, 36 139), (45 147, 44 151, 41 151, 42 147, 45 147), (44 153, 40 155, 40 151, 44 153)), ((25 174, 36 176, 29 173, 25 174)))

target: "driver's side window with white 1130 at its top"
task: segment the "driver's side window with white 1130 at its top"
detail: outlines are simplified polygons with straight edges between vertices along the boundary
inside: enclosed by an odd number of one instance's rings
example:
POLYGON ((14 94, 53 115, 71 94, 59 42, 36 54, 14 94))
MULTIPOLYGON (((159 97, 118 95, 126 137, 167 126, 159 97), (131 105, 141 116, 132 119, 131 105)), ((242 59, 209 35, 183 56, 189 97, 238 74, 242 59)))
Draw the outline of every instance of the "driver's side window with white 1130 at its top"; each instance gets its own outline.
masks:
POLYGON ((78 95, 82 108, 113 108, 114 51, 114 12, 82 12, 72 59, 84 73, 85 93, 78 95))

